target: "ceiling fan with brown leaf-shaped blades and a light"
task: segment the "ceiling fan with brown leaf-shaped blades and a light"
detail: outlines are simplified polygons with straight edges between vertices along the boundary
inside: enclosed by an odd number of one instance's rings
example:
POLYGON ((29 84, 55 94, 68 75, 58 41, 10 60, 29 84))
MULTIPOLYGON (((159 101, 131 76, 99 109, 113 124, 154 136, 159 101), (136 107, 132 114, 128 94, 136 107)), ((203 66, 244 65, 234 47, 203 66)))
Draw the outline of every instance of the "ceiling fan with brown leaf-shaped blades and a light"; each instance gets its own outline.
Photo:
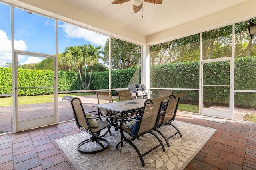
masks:
MULTIPOLYGON (((124 2, 128 2, 130 0, 114 0, 112 4, 122 4, 124 2)), ((163 0, 144 0, 145 2, 149 2, 152 4, 162 4, 163 0)), ((132 8, 134 13, 138 12, 143 6, 143 0, 132 0, 132 8)))

